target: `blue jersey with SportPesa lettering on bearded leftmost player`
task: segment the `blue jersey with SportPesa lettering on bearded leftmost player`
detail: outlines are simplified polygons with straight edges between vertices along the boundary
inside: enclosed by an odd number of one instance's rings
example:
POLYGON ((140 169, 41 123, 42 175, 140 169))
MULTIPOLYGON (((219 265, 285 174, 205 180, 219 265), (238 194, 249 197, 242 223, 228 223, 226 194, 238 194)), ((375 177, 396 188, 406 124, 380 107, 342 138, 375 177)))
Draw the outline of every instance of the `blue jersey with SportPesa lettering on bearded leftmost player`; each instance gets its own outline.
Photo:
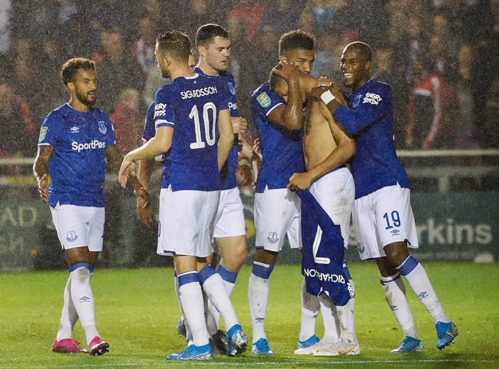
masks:
POLYGON ((64 104, 52 111, 42 124, 38 142, 38 146, 54 147, 49 162, 49 205, 103 207, 104 154, 113 144, 113 125, 102 110, 84 113, 64 104))

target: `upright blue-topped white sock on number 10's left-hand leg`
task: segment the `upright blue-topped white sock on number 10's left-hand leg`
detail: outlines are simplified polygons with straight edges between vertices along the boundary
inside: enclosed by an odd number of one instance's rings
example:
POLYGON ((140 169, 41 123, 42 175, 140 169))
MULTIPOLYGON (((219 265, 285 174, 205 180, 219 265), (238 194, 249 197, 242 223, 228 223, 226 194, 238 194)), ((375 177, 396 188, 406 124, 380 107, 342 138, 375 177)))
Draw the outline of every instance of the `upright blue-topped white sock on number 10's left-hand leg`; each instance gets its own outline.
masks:
POLYGON ((189 324, 192 339, 196 346, 209 343, 206 329, 203 292, 199 284, 198 273, 190 271, 178 276, 180 303, 184 311, 186 324, 189 324))

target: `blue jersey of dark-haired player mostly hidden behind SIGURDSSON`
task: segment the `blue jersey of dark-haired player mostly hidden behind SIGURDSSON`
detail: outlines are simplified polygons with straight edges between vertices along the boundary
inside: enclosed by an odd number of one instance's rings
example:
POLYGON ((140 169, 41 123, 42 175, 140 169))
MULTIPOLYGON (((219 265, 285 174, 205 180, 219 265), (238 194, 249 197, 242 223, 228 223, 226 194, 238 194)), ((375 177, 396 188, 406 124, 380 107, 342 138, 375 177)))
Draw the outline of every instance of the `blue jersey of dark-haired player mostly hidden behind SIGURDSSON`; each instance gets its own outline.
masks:
MULTIPOLYGON (((219 79, 219 83, 225 88, 225 94, 227 94, 227 102, 229 105, 229 111, 231 117, 238 117, 237 113, 237 99, 236 99, 236 84, 234 82, 234 77, 229 71, 220 72, 218 76, 208 76, 201 68, 194 68, 194 72, 207 76, 208 78, 219 79)), ((236 168, 237 168, 237 151, 238 151, 238 138, 237 135, 234 137, 234 145, 232 146, 227 161, 225 162, 222 170, 220 171, 221 178, 221 190, 229 190, 237 186, 236 180, 236 168)))

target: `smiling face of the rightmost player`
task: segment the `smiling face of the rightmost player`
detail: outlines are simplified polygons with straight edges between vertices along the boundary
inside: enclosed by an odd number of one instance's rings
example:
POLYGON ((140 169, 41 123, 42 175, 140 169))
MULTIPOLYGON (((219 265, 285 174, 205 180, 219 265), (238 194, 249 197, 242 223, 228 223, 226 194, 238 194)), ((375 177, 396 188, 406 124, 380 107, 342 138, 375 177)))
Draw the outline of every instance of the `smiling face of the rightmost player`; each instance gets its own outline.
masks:
POLYGON ((359 48, 347 47, 343 50, 340 69, 346 87, 351 87, 353 91, 362 87, 369 80, 370 67, 371 62, 359 48))

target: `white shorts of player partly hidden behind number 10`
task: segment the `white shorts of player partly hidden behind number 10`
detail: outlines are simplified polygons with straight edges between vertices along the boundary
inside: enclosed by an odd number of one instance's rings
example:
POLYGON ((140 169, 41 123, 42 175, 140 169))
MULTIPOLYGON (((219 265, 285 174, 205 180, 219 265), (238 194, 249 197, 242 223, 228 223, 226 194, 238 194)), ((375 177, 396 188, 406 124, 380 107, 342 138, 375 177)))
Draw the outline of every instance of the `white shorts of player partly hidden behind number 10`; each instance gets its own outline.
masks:
POLYGON ((239 188, 220 191, 217 216, 215 217, 215 238, 246 235, 243 202, 239 188))

